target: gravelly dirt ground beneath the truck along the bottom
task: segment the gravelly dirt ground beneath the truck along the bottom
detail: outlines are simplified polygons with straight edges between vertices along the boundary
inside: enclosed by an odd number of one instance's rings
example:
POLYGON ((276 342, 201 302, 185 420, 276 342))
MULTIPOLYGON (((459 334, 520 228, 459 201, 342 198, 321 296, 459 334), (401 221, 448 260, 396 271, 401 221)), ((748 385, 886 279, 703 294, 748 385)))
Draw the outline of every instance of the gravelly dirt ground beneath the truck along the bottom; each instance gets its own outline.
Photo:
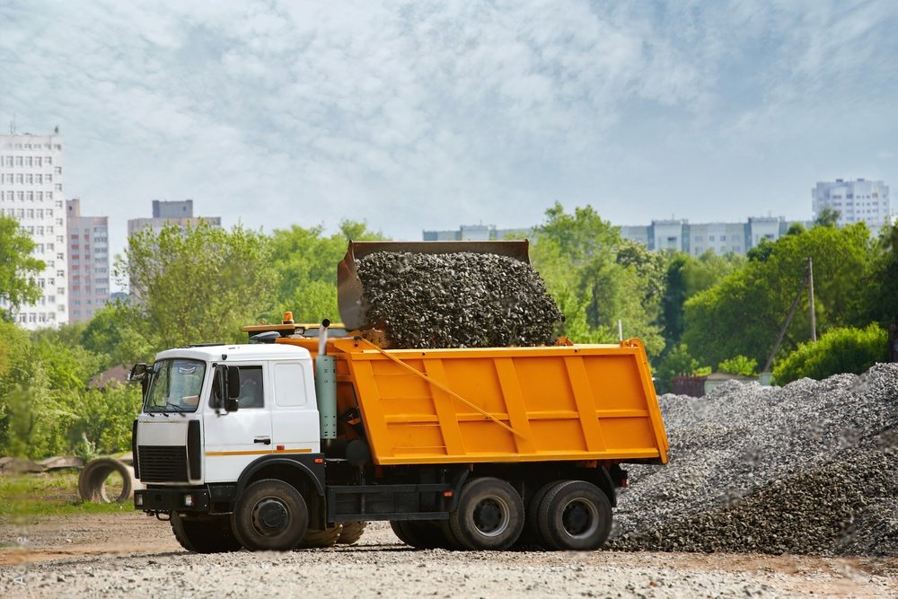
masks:
POLYGON ((0 523, 0 596, 898 597, 898 559, 414 551, 372 524, 353 547, 195 555, 136 513, 0 523), (13 545, 13 546, 10 546, 13 545))

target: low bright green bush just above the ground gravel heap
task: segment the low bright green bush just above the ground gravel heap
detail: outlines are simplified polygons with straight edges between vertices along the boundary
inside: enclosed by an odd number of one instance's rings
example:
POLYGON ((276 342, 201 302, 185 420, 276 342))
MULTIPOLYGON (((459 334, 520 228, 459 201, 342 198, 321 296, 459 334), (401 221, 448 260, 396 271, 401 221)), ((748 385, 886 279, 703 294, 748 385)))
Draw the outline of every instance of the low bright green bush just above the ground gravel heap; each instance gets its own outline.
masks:
POLYGON ((832 374, 867 371, 876 362, 885 362, 888 334, 878 325, 865 329, 832 329, 816 343, 802 343, 773 369, 778 384, 808 377, 823 379, 832 374))

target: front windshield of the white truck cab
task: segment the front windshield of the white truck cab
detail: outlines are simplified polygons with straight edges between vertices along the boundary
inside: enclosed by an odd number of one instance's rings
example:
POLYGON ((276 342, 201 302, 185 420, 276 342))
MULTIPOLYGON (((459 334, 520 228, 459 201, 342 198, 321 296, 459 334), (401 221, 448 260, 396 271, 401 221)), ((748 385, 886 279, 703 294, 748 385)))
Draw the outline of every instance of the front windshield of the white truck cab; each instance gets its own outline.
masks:
POLYGON ((159 360, 153 365, 144 398, 146 412, 195 412, 206 377, 199 360, 159 360))

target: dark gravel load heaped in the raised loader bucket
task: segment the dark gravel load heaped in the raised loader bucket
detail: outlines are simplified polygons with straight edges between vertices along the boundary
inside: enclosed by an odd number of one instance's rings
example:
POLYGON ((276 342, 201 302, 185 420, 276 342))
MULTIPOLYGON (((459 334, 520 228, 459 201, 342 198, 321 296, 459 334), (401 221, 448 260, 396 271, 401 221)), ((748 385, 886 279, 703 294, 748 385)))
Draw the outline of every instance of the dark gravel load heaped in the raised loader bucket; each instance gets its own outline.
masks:
POLYGON ((357 272, 366 328, 392 348, 550 345, 562 318, 533 267, 505 256, 379 251, 357 272))

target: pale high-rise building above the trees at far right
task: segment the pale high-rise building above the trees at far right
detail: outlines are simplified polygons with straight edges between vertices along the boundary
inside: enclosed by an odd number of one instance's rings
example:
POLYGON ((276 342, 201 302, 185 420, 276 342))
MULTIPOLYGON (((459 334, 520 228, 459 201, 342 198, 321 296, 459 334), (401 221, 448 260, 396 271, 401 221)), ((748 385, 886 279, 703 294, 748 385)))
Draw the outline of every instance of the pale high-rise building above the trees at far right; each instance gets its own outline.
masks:
POLYGON ((811 189, 814 220, 824 208, 839 211, 839 226, 867 223, 874 234, 892 221, 889 186, 883 181, 819 181, 811 189))

